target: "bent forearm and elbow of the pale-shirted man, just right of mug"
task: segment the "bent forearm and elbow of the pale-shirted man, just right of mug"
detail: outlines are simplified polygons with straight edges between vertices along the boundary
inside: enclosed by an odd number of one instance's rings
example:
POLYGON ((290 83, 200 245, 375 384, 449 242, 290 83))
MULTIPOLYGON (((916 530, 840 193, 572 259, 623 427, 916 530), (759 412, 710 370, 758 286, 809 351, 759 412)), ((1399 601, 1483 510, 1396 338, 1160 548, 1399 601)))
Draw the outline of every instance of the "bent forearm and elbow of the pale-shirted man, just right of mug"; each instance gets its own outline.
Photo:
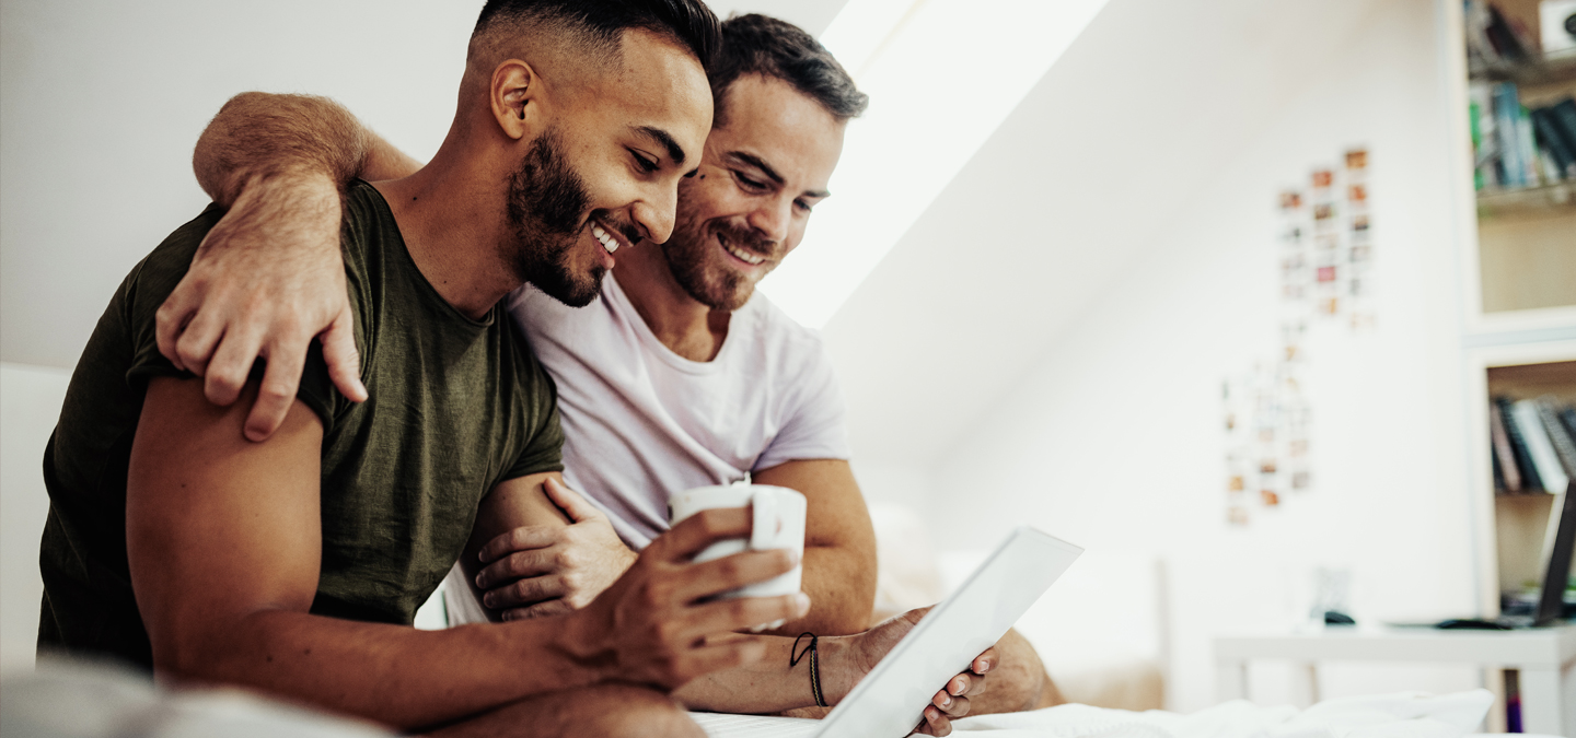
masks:
POLYGON ((788 637, 801 633, 851 636, 870 628, 876 573, 868 559, 848 546, 805 544, 799 589, 810 595, 810 612, 772 633, 788 637))

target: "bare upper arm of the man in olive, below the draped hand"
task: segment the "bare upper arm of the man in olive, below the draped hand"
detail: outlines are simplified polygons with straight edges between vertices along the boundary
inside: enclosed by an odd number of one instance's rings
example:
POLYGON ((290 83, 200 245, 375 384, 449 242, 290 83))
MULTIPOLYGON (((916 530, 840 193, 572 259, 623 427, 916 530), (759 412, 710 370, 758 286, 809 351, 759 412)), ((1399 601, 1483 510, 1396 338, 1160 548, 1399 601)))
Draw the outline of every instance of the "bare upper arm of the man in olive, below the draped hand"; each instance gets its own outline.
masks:
POLYGON ((188 670, 225 623, 306 612, 322 557, 323 425, 299 400, 265 442, 243 437, 257 395, 229 408, 200 379, 156 378, 131 448, 126 554, 161 669, 188 670))

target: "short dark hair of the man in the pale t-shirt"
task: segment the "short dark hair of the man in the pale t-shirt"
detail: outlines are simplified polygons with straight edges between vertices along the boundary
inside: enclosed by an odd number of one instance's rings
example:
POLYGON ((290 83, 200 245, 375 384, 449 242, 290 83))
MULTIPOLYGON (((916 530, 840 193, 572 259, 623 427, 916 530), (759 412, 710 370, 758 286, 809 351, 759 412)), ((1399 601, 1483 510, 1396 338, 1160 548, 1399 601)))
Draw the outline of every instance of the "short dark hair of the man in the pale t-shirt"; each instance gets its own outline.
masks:
POLYGON ((749 14, 722 24, 722 47, 711 69, 712 127, 728 115, 728 88, 745 74, 775 77, 821 104, 834 118, 857 118, 870 96, 854 87, 843 65, 810 36, 786 20, 749 14))

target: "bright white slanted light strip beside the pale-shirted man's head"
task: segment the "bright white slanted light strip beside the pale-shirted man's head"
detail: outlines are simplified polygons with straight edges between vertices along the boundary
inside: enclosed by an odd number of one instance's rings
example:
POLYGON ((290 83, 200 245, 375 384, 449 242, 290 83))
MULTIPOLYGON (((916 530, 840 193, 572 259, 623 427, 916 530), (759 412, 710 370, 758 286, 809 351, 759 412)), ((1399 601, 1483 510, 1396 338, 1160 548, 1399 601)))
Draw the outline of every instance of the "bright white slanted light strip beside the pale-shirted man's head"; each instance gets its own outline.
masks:
POLYGON ((835 197, 761 290, 824 326, 1105 2, 851 0, 821 41, 870 110, 848 127, 835 197))

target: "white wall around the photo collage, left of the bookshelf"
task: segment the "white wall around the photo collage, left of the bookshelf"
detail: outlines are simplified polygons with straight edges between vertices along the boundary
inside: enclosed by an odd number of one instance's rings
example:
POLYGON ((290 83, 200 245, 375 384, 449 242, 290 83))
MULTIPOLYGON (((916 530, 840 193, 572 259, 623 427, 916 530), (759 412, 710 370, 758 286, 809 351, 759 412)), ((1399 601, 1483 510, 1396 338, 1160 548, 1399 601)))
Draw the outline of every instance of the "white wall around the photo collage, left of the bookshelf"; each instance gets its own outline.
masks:
MULTIPOLYGON (((1314 565, 1352 571, 1360 620, 1474 609, 1448 230, 1455 142, 1434 3, 1366 6, 1335 44, 1280 52, 1308 60, 1302 82, 1286 82, 1307 90, 1217 167, 1141 173, 1177 183, 1184 214, 928 469, 953 548, 1029 522, 1091 549, 1163 557, 1173 708, 1214 702, 1210 636, 1291 620, 1314 565), (1371 151, 1379 324, 1316 330, 1307 390, 1318 486, 1229 529, 1220 382, 1277 349, 1273 198, 1349 145, 1371 151)), ((1144 209, 1128 203, 1132 217, 1144 209)), ((1273 669, 1254 681, 1261 700, 1288 694, 1273 669)), ((1472 686, 1469 669, 1336 667, 1324 694, 1472 686)))

